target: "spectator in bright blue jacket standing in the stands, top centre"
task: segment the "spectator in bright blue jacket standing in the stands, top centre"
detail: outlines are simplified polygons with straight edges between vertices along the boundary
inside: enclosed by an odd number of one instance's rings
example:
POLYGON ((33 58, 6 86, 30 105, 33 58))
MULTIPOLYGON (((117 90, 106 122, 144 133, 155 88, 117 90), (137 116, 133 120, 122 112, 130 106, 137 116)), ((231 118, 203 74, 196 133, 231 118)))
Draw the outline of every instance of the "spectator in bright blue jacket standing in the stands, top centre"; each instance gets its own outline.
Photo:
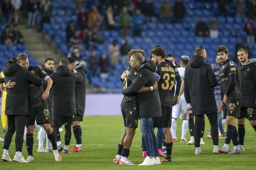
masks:
POLYGON ((135 15, 132 18, 133 21, 133 29, 134 29, 134 36, 141 36, 142 25, 144 24, 145 18, 144 15, 141 14, 139 9, 136 9, 135 15))

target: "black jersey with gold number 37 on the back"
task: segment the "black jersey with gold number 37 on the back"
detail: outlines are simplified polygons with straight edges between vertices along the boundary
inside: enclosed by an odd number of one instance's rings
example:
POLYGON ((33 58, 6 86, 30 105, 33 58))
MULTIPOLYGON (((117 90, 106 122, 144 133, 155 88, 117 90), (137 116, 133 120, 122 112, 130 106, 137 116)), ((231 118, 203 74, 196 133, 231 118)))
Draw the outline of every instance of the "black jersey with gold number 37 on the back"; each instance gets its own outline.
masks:
POLYGON ((161 106, 172 106, 172 88, 175 85, 175 71, 166 62, 161 62, 157 65, 156 73, 161 76, 158 81, 158 93, 161 101, 161 106))

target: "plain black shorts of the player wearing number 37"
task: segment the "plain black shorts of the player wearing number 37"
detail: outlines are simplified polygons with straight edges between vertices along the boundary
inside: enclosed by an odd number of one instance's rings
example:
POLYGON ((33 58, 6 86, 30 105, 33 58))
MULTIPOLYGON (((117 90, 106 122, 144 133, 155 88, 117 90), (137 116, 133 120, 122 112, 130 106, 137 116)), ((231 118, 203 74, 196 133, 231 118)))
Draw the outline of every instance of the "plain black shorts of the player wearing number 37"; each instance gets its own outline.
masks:
POLYGON ((172 107, 161 106, 162 116, 154 118, 153 127, 172 127, 172 107))

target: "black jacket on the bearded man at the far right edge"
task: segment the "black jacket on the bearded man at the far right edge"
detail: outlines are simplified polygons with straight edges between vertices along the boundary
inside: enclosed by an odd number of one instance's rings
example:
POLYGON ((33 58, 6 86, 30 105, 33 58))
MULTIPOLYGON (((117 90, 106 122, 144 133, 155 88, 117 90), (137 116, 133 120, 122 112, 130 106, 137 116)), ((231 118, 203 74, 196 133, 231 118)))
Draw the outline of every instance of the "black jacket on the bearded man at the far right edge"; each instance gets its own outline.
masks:
POLYGON ((256 59, 249 59, 244 67, 239 63, 238 74, 243 98, 242 107, 256 107, 256 59))

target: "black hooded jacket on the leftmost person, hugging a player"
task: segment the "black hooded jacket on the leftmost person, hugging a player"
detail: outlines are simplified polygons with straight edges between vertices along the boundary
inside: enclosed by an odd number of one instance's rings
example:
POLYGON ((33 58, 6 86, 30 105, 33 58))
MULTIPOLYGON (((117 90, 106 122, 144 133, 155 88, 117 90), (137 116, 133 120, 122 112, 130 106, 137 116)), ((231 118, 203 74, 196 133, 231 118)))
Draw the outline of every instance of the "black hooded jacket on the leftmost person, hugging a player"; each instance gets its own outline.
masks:
POLYGON ((4 67, 5 83, 9 80, 15 81, 16 85, 8 89, 5 114, 6 115, 29 115, 29 82, 35 85, 43 85, 44 79, 30 71, 20 67, 18 64, 9 64, 4 67))

